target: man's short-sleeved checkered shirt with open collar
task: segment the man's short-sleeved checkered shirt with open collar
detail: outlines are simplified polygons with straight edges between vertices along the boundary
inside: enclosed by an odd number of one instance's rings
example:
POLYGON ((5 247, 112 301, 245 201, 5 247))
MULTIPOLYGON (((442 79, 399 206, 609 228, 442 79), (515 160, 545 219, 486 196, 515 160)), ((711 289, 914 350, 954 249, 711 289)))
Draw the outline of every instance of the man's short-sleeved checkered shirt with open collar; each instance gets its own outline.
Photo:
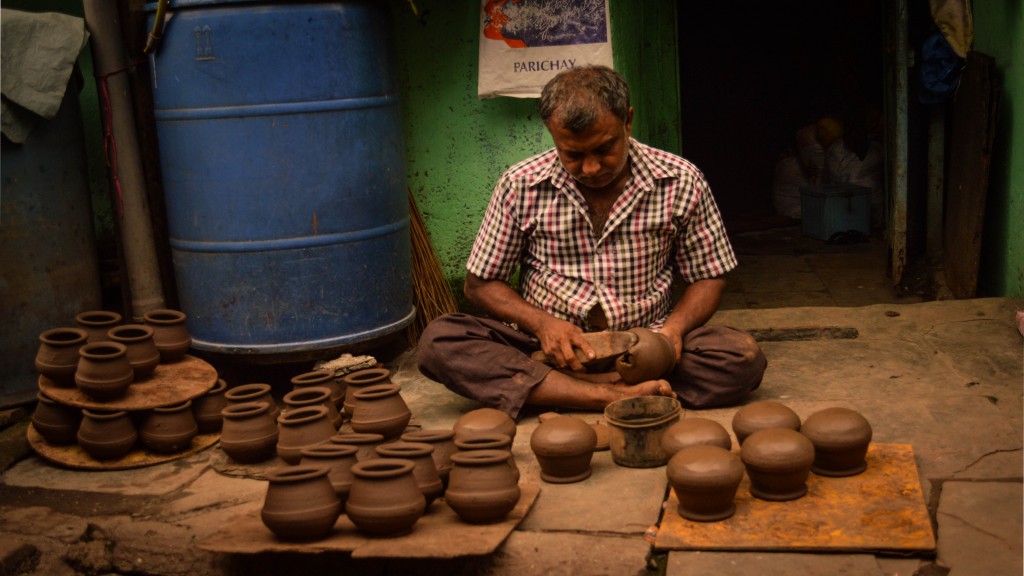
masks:
POLYGON ((660 327, 675 266, 688 283, 736 266, 718 206, 690 162, 630 139, 632 178, 594 236, 586 201, 554 149, 509 168, 495 187, 466 269, 511 281, 523 298, 587 328, 660 327))

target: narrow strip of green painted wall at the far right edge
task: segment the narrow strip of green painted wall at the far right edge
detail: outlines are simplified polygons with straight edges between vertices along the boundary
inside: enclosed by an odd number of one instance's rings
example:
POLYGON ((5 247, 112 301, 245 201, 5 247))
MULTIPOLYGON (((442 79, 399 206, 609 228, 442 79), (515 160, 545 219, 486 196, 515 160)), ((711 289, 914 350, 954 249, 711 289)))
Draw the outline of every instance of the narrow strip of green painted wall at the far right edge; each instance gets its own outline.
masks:
POLYGON ((974 24, 1002 82, 978 292, 1024 297, 1024 1, 975 2, 974 24))

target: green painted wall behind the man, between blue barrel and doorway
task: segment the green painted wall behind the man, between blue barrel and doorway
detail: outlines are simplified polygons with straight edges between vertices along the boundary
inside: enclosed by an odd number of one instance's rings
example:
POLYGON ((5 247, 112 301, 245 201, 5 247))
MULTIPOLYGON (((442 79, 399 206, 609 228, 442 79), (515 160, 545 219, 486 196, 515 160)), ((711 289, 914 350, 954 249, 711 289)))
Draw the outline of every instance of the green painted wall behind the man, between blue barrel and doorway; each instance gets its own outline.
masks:
MULTIPOLYGON (((502 172, 551 146, 532 98, 476 97, 479 0, 390 0, 410 189, 449 282, 502 172)), ((634 136, 679 152, 676 7, 611 0, 615 68, 631 83, 634 136)))

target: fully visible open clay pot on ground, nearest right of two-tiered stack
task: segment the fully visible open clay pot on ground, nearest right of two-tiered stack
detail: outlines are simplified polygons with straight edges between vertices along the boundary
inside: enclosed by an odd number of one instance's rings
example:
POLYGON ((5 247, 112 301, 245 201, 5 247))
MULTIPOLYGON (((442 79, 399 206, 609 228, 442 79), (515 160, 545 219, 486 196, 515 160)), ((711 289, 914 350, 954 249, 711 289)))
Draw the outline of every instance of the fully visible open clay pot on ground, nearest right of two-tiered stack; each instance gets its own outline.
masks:
POLYGON ((220 411, 223 427, 220 448, 232 460, 242 463, 262 462, 274 455, 278 447, 278 423, 270 417, 265 402, 228 404, 220 411))

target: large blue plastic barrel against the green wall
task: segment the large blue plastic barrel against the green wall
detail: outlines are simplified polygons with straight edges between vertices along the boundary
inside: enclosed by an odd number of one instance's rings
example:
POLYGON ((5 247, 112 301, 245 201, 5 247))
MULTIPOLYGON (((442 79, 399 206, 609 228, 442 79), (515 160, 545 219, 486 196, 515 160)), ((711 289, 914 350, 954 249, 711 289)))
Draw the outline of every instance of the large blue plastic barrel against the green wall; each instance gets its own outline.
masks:
POLYGON ((172 0, 167 16, 153 95, 194 346, 308 353, 404 328, 409 201, 386 5, 172 0))

